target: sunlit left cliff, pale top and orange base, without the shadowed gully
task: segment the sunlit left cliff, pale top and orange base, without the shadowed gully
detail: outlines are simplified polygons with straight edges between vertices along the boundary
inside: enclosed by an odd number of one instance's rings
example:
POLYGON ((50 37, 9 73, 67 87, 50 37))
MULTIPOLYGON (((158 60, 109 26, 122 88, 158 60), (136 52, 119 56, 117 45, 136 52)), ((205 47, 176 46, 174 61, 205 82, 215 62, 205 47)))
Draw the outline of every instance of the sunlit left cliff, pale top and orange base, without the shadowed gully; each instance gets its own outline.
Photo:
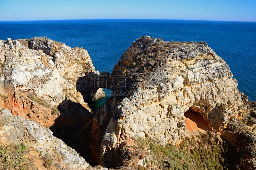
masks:
MULTIPOLYGON (((76 90, 79 77, 90 72, 98 74, 85 49, 70 48, 46 37, 14 41, 8 38, 0 44, 0 63, 0 104, 12 114, 50 126, 58 115, 38 103, 56 110, 60 104, 68 103, 63 101, 70 100, 91 112, 76 90), (45 113, 40 119, 39 110, 45 113)), ((102 89, 98 94, 98 98, 104 96, 102 89)))

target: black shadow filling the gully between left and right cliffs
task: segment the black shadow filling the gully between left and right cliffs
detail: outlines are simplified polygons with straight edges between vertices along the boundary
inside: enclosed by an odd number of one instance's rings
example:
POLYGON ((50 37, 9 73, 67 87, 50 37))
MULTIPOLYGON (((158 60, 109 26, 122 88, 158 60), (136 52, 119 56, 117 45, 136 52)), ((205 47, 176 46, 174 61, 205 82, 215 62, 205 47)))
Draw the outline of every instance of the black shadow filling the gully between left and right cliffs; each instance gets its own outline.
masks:
POLYGON ((93 115, 80 103, 65 99, 58 106, 60 116, 50 127, 53 136, 60 138, 75 149, 80 156, 93 166, 90 152, 93 115))

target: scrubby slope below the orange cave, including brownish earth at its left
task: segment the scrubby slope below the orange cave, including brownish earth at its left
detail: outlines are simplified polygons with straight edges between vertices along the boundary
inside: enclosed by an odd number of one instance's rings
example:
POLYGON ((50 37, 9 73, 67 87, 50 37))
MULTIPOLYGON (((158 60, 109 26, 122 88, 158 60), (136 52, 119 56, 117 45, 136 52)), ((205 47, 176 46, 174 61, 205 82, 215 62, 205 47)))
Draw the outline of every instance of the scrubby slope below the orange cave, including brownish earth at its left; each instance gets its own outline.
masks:
POLYGON ((228 151, 227 144, 212 132, 200 132, 185 137, 179 146, 162 145, 150 138, 139 138, 136 145, 124 146, 122 151, 130 160, 137 161, 130 162, 120 169, 136 168, 142 159, 146 164, 140 166, 140 169, 227 169, 225 158, 228 151), (143 150, 149 150, 150 154, 147 155, 143 150))

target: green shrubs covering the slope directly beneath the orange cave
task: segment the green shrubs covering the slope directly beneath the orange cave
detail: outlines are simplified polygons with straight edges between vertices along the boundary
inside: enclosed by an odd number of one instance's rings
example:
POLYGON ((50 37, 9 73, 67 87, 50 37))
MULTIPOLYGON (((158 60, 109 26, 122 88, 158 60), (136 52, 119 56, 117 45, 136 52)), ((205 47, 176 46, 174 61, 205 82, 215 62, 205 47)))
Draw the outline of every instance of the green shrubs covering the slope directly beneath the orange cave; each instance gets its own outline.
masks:
POLYGON ((152 151, 151 156, 157 161, 151 160, 151 164, 157 162, 159 169, 226 169, 225 144, 216 142, 212 133, 201 133, 196 137, 186 137, 180 146, 160 145, 149 138, 138 138, 137 143, 152 151))

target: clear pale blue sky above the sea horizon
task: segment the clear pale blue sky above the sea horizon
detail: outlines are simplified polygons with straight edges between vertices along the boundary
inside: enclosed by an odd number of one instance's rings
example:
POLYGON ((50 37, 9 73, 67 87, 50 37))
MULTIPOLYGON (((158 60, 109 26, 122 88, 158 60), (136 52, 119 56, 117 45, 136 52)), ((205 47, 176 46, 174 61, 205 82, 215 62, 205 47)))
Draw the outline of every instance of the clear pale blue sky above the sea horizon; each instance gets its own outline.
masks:
POLYGON ((107 18, 256 21, 256 0, 0 0, 0 21, 107 18))

